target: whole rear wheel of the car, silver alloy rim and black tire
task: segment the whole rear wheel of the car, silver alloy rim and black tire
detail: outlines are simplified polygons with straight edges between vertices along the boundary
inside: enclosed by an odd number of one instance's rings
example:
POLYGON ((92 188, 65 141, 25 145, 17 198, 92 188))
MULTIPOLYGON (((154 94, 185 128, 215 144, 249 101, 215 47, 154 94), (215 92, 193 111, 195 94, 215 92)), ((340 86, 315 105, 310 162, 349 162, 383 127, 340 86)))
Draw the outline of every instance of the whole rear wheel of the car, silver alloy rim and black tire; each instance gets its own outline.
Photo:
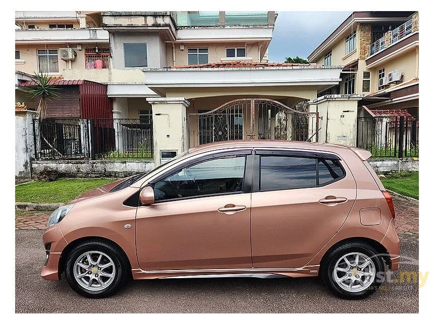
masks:
POLYGON ((383 259, 371 245, 348 242, 324 256, 320 274, 325 284, 337 296, 362 299, 382 285, 384 268, 383 259))

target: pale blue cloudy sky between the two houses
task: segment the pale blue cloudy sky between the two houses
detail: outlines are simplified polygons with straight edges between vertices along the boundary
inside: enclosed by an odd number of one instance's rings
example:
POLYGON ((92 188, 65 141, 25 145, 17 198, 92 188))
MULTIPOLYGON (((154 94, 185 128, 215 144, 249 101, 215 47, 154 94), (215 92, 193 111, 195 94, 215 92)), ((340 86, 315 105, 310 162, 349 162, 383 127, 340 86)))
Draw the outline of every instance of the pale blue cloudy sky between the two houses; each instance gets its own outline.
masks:
POLYGON ((350 11, 280 11, 268 46, 269 62, 283 62, 287 56, 307 58, 350 14, 350 11))

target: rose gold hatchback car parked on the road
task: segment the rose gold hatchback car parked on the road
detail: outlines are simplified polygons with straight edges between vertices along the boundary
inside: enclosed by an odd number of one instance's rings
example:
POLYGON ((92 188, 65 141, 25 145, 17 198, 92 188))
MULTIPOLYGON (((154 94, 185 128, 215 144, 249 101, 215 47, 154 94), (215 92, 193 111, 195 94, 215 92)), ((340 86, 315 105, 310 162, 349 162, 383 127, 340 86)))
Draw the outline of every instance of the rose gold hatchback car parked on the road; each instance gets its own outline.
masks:
POLYGON ((399 267, 392 198, 341 145, 219 142, 95 188, 52 213, 41 276, 86 297, 126 280, 320 276, 366 297, 399 267))

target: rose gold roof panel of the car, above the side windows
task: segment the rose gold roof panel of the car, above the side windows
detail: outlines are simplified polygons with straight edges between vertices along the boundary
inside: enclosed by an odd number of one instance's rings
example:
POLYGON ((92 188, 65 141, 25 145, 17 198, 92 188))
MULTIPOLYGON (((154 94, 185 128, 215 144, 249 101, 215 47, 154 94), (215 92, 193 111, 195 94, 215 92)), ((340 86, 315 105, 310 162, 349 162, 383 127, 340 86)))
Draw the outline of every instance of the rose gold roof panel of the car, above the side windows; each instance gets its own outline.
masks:
MULTIPOLYGON (((285 140, 234 140, 219 141, 190 148, 188 153, 198 154, 220 149, 235 148, 282 148, 282 149, 303 149, 303 150, 324 150, 336 151, 340 149, 352 149, 345 145, 318 144, 304 141, 285 141, 285 140)), ((357 148, 358 149, 358 148, 357 148)))

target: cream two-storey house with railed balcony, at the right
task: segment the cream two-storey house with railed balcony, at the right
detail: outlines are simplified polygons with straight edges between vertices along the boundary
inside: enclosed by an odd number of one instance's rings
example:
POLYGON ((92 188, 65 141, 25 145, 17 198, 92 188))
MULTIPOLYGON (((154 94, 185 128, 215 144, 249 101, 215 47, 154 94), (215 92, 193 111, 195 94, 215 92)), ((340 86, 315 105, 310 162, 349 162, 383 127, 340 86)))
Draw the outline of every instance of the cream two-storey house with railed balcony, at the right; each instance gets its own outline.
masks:
POLYGON ((363 94, 361 105, 412 115, 419 107, 418 59, 418 12, 354 12, 308 56, 344 66, 342 82, 318 95, 363 94))

